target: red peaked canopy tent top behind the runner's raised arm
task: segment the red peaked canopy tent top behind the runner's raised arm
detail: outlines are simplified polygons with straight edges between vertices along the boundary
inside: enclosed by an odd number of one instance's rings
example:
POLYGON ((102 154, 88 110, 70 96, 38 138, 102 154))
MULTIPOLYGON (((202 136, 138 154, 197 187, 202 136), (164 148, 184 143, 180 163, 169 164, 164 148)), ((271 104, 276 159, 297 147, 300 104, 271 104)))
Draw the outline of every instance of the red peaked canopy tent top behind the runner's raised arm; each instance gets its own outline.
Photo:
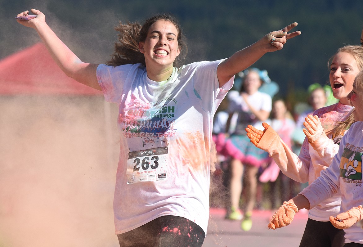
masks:
POLYGON ((66 76, 42 43, 0 61, 0 94, 102 95, 66 76))

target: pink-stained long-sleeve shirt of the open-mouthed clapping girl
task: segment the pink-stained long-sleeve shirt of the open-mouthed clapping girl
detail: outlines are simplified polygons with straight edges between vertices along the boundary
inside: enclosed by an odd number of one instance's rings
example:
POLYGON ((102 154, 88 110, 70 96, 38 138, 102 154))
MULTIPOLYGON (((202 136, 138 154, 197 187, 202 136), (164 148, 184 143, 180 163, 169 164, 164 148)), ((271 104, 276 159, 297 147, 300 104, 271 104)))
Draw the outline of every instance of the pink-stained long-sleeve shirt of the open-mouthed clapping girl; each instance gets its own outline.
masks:
MULTIPOLYGON (((320 108, 314 112, 319 117, 328 138, 321 138, 315 143, 315 149, 305 138, 299 156, 294 154, 288 145, 282 141, 275 131, 266 131, 258 147, 267 151, 281 171, 297 182, 312 183, 320 172, 330 166, 337 153, 340 140, 344 133, 333 134, 340 121, 350 116, 353 108, 340 103, 320 108), (273 133, 274 132, 274 133, 273 133)), ((329 216, 339 213, 341 198, 339 193, 316 205, 309 210, 309 218, 317 221, 329 221, 329 216)))

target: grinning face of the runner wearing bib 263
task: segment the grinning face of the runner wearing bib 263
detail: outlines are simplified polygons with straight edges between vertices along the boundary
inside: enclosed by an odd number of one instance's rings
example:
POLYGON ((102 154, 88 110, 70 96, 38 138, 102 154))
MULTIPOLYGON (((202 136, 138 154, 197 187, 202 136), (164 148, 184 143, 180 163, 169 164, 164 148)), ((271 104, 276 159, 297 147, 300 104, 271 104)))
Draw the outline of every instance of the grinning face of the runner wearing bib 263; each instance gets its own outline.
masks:
POLYGON ((172 70, 180 53, 178 35, 175 25, 167 20, 158 20, 150 26, 145 41, 139 42, 147 69, 172 70))

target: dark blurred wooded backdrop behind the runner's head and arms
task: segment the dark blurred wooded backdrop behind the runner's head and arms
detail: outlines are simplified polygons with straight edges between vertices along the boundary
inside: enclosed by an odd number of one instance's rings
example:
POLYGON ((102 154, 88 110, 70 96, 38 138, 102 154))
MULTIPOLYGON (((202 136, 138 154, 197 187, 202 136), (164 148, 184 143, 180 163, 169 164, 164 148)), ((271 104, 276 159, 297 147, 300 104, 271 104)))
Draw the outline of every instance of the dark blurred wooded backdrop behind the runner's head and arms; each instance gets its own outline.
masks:
POLYGON ((113 27, 119 19, 143 23, 157 13, 174 14, 187 36, 187 62, 229 57, 266 33, 296 21, 296 30, 302 35, 254 65, 268 70, 270 78, 280 84, 282 95, 316 82, 325 84, 329 57, 344 44, 359 44, 363 28, 361 0, 0 0, 0 58, 40 41, 35 32, 13 20, 31 7, 43 11, 58 36, 89 62, 109 59, 117 38, 113 27), (23 35, 30 38, 14 42, 23 35))

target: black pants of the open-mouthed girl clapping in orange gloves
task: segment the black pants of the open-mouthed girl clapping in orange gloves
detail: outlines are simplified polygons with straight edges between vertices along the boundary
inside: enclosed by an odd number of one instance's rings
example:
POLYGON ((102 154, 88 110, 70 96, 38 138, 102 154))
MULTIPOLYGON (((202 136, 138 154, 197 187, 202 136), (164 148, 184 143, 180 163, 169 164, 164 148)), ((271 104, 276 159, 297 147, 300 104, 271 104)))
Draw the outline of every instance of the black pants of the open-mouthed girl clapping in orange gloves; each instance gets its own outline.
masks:
POLYGON ((300 247, 343 247, 344 230, 335 228, 333 224, 307 219, 300 247))

